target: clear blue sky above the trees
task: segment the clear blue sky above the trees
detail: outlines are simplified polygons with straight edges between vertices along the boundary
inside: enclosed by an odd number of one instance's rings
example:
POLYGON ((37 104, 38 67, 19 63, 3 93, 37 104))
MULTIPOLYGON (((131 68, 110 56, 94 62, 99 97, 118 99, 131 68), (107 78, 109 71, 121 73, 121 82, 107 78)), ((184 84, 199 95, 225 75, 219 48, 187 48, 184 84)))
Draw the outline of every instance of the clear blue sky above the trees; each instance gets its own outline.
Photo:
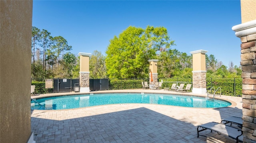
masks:
POLYGON ((33 1, 32 25, 62 36, 71 53, 106 55, 110 39, 128 26, 163 26, 175 41, 172 49, 190 54, 206 50, 228 67, 240 66, 240 0, 33 1))

